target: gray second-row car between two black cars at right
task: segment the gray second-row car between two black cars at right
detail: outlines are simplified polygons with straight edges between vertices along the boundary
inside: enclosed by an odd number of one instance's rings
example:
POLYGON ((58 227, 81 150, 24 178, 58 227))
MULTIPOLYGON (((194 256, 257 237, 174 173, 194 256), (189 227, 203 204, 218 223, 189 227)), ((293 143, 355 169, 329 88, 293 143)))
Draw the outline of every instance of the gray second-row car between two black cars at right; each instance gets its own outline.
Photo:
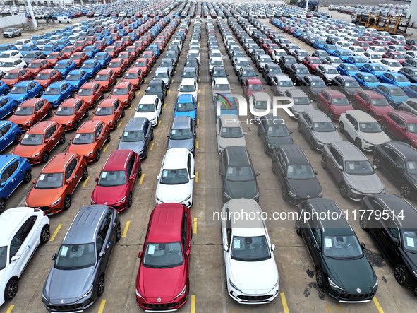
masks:
POLYGON ((328 170, 342 197, 361 201, 364 196, 385 194, 385 186, 358 147, 346 141, 324 146, 322 168, 328 170))

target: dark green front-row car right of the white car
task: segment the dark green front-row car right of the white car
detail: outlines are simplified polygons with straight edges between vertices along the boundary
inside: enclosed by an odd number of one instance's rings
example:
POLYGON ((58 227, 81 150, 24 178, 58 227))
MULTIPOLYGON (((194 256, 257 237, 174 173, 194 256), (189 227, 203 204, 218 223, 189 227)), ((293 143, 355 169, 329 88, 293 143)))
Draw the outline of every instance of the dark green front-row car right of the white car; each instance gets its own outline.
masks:
POLYGON ((296 232, 313 259, 317 284, 340 302, 368 302, 377 291, 377 277, 355 232, 332 199, 300 203, 296 232))

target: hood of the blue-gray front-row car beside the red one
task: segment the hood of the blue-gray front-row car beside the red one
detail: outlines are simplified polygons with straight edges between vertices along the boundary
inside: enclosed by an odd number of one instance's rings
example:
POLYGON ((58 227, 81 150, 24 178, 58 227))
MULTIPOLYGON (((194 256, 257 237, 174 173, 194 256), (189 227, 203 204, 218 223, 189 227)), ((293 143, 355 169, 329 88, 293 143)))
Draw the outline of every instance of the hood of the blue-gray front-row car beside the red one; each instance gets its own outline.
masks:
POLYGON ((95 274, 95 266, 75 270, 61 270, 52 267, 44 285, 45 296, 51 304, 75 302, 90 290, 95 274))

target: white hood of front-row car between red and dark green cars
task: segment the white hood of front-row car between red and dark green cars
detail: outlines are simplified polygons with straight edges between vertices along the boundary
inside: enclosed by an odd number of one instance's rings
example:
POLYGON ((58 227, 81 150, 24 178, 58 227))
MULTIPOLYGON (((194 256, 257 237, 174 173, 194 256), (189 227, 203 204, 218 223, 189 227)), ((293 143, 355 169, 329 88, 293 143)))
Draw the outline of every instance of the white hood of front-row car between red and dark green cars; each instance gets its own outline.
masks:
POLYGON ((278 281, 278 269, 271 257, 265 261, 245 262, 230 259, 231 280, 247 294, 267 293, 278 281))

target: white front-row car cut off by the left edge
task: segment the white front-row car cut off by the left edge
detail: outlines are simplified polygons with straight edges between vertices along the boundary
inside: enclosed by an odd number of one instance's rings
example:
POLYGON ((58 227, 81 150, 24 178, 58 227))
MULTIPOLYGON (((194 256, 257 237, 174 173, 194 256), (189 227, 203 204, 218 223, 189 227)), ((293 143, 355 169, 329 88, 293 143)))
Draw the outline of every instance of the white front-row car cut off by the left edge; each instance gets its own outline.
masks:
POLYGON ((49 218, 38 208, 0 215, 0 305, 18 292, 18 280, 37 247, 49 240, 49 218))

